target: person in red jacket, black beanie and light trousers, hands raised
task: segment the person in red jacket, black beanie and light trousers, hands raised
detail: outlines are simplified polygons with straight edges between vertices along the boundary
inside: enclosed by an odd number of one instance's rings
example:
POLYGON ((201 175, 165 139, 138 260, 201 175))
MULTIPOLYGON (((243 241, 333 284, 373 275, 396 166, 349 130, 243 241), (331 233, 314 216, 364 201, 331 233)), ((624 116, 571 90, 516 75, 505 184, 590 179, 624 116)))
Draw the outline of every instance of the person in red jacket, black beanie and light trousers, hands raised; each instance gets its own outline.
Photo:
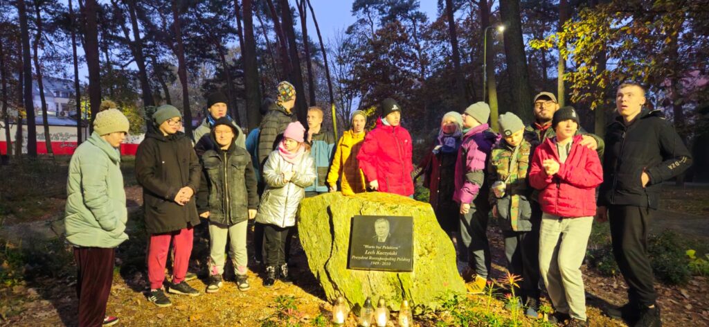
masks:
POLYGON ((581 145, 579 114, 566 106, 554 113, 557 133, 535 150, 530 184, 541 191, 539 266, 554 305, 551 323, 587 326, 581 263, 596 214, 596 187, 603 182, 598 153, 581 145))

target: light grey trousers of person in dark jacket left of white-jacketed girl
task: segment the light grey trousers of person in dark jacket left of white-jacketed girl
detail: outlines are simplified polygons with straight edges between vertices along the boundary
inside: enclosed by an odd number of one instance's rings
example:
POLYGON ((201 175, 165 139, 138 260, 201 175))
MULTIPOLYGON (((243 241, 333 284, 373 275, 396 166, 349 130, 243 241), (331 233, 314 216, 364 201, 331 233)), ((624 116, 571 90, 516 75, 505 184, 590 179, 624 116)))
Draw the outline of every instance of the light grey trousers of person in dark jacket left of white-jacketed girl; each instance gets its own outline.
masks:
POLYGON ((246 231, 248 221, 232 226, 209 222, 209 275, 222 275, 226 261, 226 241, 229 238, 229 257, 236 275, 246 275, 248 263, 246 252, 246 231))

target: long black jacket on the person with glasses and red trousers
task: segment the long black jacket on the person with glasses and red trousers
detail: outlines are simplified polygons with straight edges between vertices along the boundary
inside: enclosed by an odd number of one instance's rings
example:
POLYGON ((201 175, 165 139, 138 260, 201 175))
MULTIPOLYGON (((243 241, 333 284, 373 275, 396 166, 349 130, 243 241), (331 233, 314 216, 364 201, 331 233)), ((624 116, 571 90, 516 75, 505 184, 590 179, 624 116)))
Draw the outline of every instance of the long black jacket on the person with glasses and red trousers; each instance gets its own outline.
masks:
POLYGON ((167 233, 199 224, 195 197, 180 206, 174 201, 182 187, 199 190, 201 166, 192 142, 182 132, 145 135, 135 154, 135 178, 143 187, 148 233, 167 233))

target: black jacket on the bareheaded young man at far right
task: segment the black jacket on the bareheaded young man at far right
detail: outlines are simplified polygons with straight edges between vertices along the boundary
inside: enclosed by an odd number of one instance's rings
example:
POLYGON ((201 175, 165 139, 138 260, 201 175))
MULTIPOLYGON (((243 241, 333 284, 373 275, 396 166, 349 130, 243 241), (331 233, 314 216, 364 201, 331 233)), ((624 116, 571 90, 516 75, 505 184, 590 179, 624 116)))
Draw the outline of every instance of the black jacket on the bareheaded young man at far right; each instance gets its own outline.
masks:
POLYGON ((647 109, 630 126, 625 126, 623 117, 618 116, 606 130, 598 205, 657 209, 660 184, 692 164, 681 138, 660 111, 647 109), (643 171, 650 177, 644 188, 640 181, 643 171))

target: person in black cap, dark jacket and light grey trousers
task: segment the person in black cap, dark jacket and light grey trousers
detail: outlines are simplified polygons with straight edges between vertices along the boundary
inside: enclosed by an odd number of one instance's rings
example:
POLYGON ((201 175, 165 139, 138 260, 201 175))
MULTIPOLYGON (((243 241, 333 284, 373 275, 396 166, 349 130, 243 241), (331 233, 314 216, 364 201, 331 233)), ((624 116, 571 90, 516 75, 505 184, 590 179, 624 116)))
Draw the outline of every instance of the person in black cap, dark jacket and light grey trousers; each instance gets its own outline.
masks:
POLYGON ((202 182, 197 193, 197 210, 209 219, 209 284, 207 293, 222 287, 224 253, 229 239, 229 256, 240 291, 250 289, 247 279, 246 231, 259 205, 256 174, 247 150, 235 145, 239 130, 228 118, 214 122, 209 137, 220 146, 202 155, 202 182))

